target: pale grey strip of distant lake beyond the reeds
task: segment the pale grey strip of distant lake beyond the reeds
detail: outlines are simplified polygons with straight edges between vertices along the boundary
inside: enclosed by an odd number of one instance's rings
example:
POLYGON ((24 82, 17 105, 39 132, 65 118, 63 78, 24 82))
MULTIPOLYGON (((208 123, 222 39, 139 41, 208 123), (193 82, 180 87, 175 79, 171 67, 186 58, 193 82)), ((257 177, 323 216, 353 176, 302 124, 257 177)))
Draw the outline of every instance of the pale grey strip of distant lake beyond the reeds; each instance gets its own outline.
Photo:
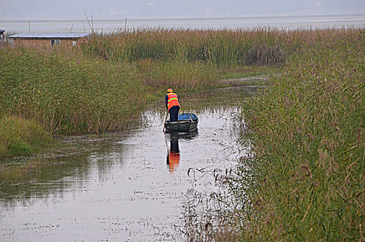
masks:
MULTIPOLYGON (((189 29, 254 29, 279 28, 365 28, 365 15, 322 15, 288 17, 221 17, 171 19, 93 19, 90 25, 97 32, 133 28, 189 28, 189 29)), ((79 20, 0 20, 0 28, 9 33, 19 32, 90 32, 85 19, 79 20)))

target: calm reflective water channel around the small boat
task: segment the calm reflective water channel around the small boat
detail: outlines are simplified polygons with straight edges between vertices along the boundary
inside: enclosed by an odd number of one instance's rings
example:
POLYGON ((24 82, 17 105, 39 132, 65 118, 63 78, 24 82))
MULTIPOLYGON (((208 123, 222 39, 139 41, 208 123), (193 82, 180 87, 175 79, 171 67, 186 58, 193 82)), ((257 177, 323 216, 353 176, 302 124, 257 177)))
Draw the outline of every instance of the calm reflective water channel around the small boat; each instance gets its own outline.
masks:
POLYGON ((234 165, 231 118, 254 91, 180 94, 181 112, 199 118, 194 133, 163 133, 161 102, 132 131, 70 137, 66 155, 12 160, 0 173, 0 241, 180 241, 185 194, 214 189, 200 171, 234 165))

